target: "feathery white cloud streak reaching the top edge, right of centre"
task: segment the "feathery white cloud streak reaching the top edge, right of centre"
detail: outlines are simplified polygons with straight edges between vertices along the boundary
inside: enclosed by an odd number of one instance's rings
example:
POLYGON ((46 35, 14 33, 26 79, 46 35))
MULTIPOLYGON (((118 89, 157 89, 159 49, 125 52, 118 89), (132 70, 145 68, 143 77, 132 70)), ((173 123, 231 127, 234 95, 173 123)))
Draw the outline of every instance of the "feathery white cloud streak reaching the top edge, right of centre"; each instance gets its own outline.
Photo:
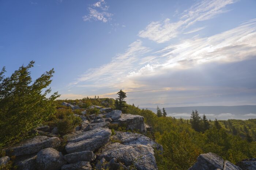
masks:
POLYGON ((148 38, 157 43, 164 43, 177 37, 184 29, 195 24, 197 21, 208 20, 220 13, 226 12, 227 10, 224 7, 234 2, 236 0, 201 1, 184 11, 179 21, 171 22, 170 19, 166 19, 163 22, 153 21, 147 25, 146 29, 140 31, 138 36, 148 38))

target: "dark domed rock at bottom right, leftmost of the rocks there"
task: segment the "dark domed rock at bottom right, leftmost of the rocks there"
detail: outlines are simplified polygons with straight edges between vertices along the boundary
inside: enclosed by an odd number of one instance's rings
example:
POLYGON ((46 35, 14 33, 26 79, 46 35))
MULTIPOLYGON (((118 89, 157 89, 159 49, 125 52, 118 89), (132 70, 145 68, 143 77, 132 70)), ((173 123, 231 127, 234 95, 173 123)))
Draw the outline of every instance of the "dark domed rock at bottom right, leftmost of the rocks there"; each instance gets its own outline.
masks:
POLYGON ((189 168, 189 170, 215 170, 222 169, 224 166, 224 160, 217 154, 207 153, 200 154, 197 157, 197 162, 189 168))

